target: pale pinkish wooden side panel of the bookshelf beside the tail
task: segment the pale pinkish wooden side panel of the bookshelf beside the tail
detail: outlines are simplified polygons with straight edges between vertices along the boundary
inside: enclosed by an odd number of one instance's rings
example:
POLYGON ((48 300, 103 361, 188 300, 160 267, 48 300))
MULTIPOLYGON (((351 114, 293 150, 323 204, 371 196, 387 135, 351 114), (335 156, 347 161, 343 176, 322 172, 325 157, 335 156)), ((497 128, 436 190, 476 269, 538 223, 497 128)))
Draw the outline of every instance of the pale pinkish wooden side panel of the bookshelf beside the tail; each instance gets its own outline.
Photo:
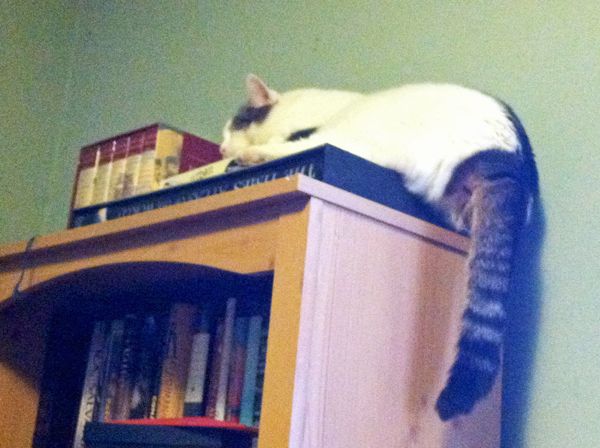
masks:
POLYGON ((498 387, 469 417, 442 423, 434 410, 464 309, 464 253, 317 202, 289 446, 498 447, 498 387))

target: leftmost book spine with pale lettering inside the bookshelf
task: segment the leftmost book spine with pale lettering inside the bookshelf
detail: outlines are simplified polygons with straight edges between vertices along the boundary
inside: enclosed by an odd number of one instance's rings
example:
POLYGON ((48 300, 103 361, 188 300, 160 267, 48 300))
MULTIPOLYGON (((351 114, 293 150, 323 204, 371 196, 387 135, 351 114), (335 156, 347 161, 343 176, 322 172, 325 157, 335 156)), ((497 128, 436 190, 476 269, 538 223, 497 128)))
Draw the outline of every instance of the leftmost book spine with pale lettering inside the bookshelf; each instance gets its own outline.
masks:
POLYGON ((85 448, 83 429, 86 423, 93 420, 94 410, 99 406, 100 380, 106 359, 106 333, 107 323, 103 321, 96 322, 90 341, 73 448, 85 448))

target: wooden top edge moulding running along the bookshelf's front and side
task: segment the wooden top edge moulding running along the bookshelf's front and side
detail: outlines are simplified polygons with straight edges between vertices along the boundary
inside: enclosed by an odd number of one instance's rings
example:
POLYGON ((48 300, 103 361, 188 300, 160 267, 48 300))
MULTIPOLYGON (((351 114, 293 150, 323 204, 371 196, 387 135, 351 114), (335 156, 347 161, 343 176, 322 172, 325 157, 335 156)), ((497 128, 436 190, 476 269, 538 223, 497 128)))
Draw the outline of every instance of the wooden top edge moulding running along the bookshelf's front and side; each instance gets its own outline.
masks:
POLYGON ((193 220, 216 212, 243 213, 249 210, 272 210, 278 206, 282 210, 291 210, 294 205, 298 209, 311 198, 354 210, 455 251, 466 252, 468 248, 468 239, 464 236, 299 174, 99 224, 37 236, 29 249, 28 241, 5 244, 0 246, 0 263, 20 258, 28 250, 52 251, 105 236, 170 223, 176 225, 181 220, 193 220))

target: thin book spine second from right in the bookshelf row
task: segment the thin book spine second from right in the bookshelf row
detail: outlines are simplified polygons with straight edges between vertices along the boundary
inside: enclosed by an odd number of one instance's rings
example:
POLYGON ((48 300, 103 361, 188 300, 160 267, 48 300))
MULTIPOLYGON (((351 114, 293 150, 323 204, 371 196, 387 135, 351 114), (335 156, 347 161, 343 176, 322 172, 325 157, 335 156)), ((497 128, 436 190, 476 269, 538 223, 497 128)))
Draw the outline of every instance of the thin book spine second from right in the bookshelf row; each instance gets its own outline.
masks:
POLYGON ((233 346, 231 368, 227 386, 227 406, 225 420, 239 423, 246 364, 246 343, 248 338, 248 318, 238 317, 233 326, 233 346))

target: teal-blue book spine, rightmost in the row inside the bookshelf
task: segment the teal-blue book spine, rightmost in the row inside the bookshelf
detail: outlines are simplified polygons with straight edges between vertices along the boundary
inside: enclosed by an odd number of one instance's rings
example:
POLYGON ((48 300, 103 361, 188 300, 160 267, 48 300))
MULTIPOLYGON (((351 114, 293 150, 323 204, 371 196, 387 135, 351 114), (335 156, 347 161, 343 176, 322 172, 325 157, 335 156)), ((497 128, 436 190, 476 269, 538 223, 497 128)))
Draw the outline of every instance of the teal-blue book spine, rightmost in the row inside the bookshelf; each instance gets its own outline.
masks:
POLYGON ((242 389, 242 403, 240 409, 240 423, 246 426, 252 426, 254 424, 254 401, 256 399, 256 379, 258 375, 262 320, 262 316, 252 316, 250 317, 250 322, 248 324, 244 387, 242 389))

